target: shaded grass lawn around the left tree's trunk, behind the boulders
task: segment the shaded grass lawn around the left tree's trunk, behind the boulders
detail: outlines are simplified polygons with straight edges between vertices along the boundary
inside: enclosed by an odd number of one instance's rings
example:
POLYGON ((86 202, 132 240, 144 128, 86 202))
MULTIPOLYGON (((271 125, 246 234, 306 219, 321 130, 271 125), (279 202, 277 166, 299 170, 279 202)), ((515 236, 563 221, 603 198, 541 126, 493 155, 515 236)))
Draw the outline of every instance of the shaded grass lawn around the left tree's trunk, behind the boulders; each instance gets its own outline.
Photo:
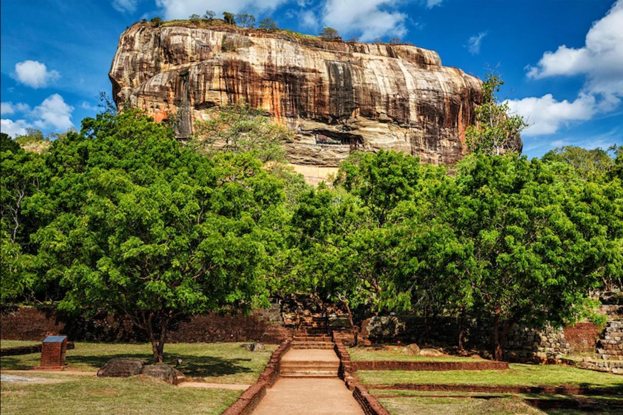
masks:
MULTIPOLYGON (((2 348, 36 345, 36 341, 2 340, 2 348)), ((253 383, 270 358, 276 345, 264 351, 247 351, 242 343, 168 343, 164 345, 164 363, 181 358, 177 368, 186 376, 200 376, 214 383, 253 383)), ((0 368, 27 370, 39 365, 40 353, 3 356, 0 368)), ((96 371, 113 357, 140 357, 151 361, 150 344, 75 342, 67 350, 66 363, 71 370, 96 371)))

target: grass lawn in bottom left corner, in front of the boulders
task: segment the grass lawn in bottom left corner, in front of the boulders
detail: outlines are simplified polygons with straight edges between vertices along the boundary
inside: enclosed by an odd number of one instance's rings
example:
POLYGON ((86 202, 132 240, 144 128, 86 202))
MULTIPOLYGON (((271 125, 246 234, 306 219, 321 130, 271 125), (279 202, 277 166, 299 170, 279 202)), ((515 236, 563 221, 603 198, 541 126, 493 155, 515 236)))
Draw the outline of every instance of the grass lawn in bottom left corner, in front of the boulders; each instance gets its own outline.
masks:
MULTIPOLYGON (((69 376, 65 376, 69 378, 69 376)), ((240 391, 178 388, 139 377, 80 378, 62 383, 2 383, 2 414, 219 414, 240 391)))

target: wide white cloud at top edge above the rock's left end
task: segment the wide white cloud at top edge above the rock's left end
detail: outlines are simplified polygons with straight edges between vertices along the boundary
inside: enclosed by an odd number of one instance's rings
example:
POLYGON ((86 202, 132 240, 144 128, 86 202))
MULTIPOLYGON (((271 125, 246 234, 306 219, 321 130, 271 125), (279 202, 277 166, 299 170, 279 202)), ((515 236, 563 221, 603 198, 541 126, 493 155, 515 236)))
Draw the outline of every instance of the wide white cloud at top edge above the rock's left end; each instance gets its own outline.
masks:
POLYGON ((193 13, 204 14, 206 10, 213 10, 217 17, 224 11, 262 12, 271 11, 287 0, 156 0, 164 14, 164 19, 188 19, 193 13))

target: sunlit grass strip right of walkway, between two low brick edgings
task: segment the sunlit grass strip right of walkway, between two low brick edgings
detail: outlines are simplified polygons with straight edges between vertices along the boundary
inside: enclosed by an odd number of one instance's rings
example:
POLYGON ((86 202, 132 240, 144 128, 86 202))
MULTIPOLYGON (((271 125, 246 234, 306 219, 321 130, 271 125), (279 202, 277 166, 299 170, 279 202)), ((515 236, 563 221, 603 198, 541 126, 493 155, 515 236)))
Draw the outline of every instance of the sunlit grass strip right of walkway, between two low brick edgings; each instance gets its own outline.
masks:
POLYGON ((559 365, 511 364, 509 370, 360 370, 357 371, 357 376, 366 384, 442 383, 516 386, 571 384, 623 389, 623 376, 559 365))

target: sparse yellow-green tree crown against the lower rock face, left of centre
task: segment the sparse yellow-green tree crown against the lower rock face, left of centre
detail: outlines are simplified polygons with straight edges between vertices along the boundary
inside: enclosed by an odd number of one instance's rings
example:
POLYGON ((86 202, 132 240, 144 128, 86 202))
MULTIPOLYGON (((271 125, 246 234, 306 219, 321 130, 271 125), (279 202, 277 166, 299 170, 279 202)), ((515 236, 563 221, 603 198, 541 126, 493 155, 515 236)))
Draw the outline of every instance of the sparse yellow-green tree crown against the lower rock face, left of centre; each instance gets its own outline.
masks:
POLYGON ((213 108, 209 119, 195 123, 190 145, 201 151, 249 152, 263 162, 285 161, 283 145, 292 141, 292 131, 271 122, 263 110, 249 105, 213 108))

